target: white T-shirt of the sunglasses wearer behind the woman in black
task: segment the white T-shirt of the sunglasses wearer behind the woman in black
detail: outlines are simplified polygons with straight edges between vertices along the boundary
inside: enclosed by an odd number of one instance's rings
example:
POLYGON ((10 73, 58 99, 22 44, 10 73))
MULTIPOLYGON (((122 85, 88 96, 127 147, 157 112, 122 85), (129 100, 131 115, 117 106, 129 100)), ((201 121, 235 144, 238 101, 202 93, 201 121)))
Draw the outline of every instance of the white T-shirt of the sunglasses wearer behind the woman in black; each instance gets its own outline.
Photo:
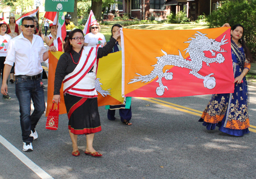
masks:
POLYGON ((105 42, 106 40, 104 35, 99 32, 97 34, 93 34, 90 32, 86 36, 84 36, 84 43, 88 43, 87 46, 97 47, 98 45, 99 47, 103 47, 105 42))

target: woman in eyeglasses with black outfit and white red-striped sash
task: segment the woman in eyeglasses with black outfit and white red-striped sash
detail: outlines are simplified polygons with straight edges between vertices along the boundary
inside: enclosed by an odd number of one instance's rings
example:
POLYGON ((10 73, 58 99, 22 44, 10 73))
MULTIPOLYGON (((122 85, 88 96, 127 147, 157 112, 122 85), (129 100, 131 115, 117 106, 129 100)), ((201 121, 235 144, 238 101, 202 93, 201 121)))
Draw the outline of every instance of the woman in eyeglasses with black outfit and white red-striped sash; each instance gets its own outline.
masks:
POLYGON ((102 48, 83 46, 84 36, 80 29, 70 32, 65 53, 58 60, 54 80, 53 103, 60 102, 60 87, 69 118, 69 134, 73 144, 73 156, 79 156, 77 135, 86 135, 84 153, 93 157, 102 154, 93 148, 94 134, 101 131, 95 78, 99 58, 107 56, 114 47, 120 32, 116 31, 102 48))

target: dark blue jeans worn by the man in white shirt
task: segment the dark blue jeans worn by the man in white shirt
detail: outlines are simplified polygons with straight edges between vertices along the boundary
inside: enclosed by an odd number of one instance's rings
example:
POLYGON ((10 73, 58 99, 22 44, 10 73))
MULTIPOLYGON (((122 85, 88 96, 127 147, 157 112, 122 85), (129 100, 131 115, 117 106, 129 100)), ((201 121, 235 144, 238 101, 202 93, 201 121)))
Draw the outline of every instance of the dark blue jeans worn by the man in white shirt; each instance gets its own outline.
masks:
POLYGON ((41 81, 41 77, 32 80, 26 78, 16 78, 15 80, 23 142, 33 141, 33 137, 29 136, 30 130, 35 129, 38 120, 46 109, 44 88, 40 85, 41 81), (31 99, 34 105, 34 112, 30 115, 31 99))

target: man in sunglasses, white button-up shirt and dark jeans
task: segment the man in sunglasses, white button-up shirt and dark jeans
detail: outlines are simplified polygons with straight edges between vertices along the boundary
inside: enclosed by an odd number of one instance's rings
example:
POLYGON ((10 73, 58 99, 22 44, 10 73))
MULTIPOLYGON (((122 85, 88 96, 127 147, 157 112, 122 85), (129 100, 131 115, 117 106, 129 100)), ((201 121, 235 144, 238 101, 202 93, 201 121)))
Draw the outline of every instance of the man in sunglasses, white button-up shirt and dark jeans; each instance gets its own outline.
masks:
MULTIPOLYGON (((22 127, 23 151, 33 151, 32 141, 38 138, 35 126, 45 112, 45 96, 42 87, 41 62, 49 58, 44 41, 34 35, 34 21, 31 17, 22 19, 22 33, 8 45, 1 93, 7 95, 7 79, 15 63, 15 88, 19 101, 20 126, 22 127), (30 115, 31 99, 34 112, 30 115)), ((56 47, 49 50, 56 52, 56 47)))

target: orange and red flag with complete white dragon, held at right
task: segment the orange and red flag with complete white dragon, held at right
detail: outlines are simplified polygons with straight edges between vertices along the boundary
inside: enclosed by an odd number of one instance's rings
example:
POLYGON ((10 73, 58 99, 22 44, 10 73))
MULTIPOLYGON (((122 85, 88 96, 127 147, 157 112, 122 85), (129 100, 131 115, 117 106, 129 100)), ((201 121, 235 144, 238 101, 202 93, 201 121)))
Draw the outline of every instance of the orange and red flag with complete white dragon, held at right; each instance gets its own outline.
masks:
POLYGON ((123 96, 180 97, 234 90, 230 28, 121 30, 123 96))

